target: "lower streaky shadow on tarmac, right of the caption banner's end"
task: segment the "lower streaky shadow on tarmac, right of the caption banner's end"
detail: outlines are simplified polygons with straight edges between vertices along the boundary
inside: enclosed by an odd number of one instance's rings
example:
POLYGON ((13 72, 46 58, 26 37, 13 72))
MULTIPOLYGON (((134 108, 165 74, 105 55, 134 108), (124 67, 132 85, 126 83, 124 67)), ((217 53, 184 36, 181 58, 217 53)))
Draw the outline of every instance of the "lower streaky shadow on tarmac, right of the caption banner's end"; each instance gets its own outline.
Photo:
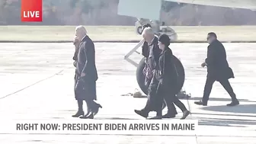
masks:
POLYGON ((255 120, 240 120, 240 119, 219 119, 219 118, 207 118, 201 119, 198 122, 199 125, 205 126, 233 126, 233 127, 248 127, 255 126, 255 120), (247 125, 247 126, 245 126, 247 125))

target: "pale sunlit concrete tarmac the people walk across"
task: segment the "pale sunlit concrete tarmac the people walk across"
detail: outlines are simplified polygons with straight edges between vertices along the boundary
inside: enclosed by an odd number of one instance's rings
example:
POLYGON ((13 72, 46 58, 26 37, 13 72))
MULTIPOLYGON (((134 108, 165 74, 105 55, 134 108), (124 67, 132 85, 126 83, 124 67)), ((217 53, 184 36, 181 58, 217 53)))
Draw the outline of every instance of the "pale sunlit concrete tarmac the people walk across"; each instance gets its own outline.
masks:
MULTIPOLYGON (((95 43, 99 79, 98 102, 104 107, 95 117, 101 120, 138 119, 134 109, 142 108, 146 98, 121 96, 139 88, 136 67, 123 56, 136 43, 95 43)), ((0 143, 88 143, 88 144, 256 144, 256 43, 224 43, 235 78, 230 79, 241 104, 226 107, 229 94, 216 82, 207 107, 194 101, 203 95, 207 43, 172 43, 175 56, 186 71, 184 90, 190 100, 182 100, 199 120, 195 136, 124 136, 124 135, 46 135, 0 133, 0 143)), ((71 43, 0 43, 0 126, 8 120, 72 120, 77 110, 74 99, 74 67, 71 43)), ((137 53, 130 57, 142 58, 137 53)), ((178 119, 181 110, 178 110, 178 119)), ((166 112, 166 110, 165 110, 166 112)), ((0 127, 1 129, 1 127, 0 127)))

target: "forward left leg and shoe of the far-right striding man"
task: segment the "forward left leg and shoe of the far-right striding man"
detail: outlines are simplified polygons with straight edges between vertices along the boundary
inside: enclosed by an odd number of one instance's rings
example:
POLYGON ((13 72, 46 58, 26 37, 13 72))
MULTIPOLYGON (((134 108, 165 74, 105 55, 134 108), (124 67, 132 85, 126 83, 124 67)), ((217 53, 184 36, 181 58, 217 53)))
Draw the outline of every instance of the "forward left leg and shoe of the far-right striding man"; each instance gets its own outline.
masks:
POLYGON ((202 101, 194 102, 194 104, 204 105, 204 106, 207 105, 209 97, 210 97, 210 92, 212 91, 213 83, 215 81, 216 81, 216 78, 213 78, 210 75, 207 75, 206 84, 205 84, 204 90, 203 90, 203 99, 202 99, 202 101))

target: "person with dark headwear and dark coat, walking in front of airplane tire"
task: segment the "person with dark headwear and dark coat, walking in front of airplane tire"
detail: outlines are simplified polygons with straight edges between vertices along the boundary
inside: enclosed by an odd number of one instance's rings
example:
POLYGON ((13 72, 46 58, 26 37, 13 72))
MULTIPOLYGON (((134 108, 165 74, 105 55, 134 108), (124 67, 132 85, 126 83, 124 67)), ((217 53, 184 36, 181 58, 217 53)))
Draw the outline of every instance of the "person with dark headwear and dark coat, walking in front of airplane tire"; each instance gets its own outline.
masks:
MULTIPOLYGON (((167 34, 162 34, 158 38, 158 46, 162 50, 162 53, 159 56, 158 70, 155 72, 155 78, 158 80, 157 95, 166 101, 168 114, 170 114, 170 108, 174 107, 173 104, 177 105, 183 112, 183 116, 181 117, 181 120, 183 120, 190 114, 190 111, 176 97, 178 91, 175 91, 175 89, 178 87, 178 75, 173 60, 174 56, 168 47, 170 41, 167 34)), ((156 117, 161 117, 161 115, 156 117)))

